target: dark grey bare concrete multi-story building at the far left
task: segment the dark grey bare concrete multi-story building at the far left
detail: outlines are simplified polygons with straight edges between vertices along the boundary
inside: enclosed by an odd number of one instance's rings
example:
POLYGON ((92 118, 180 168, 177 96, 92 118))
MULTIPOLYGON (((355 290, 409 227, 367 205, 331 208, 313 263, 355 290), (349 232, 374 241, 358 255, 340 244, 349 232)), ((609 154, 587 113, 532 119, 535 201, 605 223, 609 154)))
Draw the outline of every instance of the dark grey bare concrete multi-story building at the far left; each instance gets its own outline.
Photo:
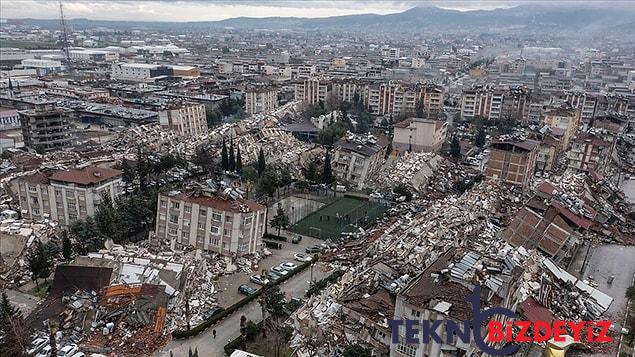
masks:
POLYGON ((33 150, 50 151, 69 146, 73 133, 66 111, 54 104, 19 111, 24 145, 33 150))

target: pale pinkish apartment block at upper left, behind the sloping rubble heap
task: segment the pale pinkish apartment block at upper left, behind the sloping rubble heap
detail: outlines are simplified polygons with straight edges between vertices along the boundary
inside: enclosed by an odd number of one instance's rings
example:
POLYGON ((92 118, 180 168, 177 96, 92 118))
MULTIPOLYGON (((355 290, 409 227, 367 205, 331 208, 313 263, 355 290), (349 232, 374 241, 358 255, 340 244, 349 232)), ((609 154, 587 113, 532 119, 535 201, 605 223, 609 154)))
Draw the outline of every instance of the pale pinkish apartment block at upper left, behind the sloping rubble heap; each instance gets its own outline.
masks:
POLYGON ((174 103, 159 112, 161 128, 188 137, 207 133, 205 105, 197 103, 174 103))

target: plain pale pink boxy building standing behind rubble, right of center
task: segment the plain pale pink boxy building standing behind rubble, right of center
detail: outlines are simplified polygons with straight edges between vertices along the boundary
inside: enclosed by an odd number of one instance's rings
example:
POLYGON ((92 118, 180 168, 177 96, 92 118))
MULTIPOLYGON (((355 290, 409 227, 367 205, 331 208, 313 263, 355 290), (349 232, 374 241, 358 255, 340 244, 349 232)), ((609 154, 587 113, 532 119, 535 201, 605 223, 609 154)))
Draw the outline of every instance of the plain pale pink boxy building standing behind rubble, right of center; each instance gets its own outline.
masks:
POLYGON ((448 123, 442 120, 409 118, 394 125, 394 150, 437 152, 445 142, 448 123))

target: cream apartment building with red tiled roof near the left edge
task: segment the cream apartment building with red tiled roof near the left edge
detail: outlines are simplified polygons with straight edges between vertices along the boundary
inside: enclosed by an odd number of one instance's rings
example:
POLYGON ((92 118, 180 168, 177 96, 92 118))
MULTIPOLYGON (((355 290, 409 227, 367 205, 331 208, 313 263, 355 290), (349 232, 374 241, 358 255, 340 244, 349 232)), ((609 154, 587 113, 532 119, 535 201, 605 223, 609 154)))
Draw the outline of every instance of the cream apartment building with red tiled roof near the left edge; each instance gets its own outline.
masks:
POLYGON ((114 201, 123 189, 122 172, 98 166, 37 172, 14 180, 22 217, 68 226, 95 214, 104 195, 114 201))

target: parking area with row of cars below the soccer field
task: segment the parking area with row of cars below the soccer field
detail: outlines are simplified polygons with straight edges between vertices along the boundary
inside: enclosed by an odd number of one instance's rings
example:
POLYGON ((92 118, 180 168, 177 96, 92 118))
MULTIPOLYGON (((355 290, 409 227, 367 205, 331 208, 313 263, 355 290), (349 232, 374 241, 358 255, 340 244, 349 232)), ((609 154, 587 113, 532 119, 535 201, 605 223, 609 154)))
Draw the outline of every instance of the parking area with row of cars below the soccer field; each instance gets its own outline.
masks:
MULTIPOLYGON (((283 232, 284 233, 284 232, 283 232)), ((289 235, 289 234, 283 234, 289 235)), ((289 235, 291 236, 291 235, 289 235)), ((291 243, 291 238, 287 242, 282 243, 282 249, 270 249, 271 255, 260 261, 260 266, 257 270, 254 270, 253 274, 260 274, 263 269, 270 269, 273 266, 278 266, 284 262, 293 262, 299 265, 300 262, 294 259, 296 253, 305 253, 305 248, 312 245, 322 243, 321 240, 312 237, 303 237, 302 241, 298 244, 291 243)), ((249 275, 242 271, 236 272, 227 276, 222 276, 218 281, 218 303, 223 307, 230 306, 236 301, 245 297, 238 292, 238 287, 242 284, 247 284, 253 288, 259 288, 260 286, 249 281, 249 275)), ((291 297, 291 296, 289 296, 291 297)))

